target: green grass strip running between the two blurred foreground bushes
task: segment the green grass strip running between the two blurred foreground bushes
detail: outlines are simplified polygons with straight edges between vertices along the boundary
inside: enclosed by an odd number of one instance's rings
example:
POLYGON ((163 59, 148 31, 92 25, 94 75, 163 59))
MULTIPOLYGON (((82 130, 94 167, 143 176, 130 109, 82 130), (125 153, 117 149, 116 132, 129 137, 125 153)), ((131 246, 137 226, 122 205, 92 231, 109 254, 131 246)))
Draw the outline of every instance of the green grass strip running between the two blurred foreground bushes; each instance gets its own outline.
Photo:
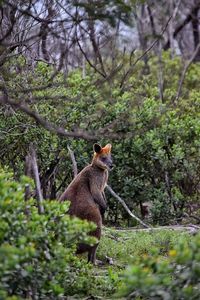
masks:
POLYGON ((116 230, 104 227, 103 236, 97 252, 98 259, 105 260, 105 256, 113 258, 113 265, 93 267, 91 276, 96 283, 90 295, 93 299, 114 299, 116 291, 121 286, 121 276, 128 265, 134 265, 138 256, 153 253, 153 249, 159 249, 161 259, 168 259, 169 251, 178 241, 188 243, 192 236, 184 231, 161 229, 155 231, 116 230))

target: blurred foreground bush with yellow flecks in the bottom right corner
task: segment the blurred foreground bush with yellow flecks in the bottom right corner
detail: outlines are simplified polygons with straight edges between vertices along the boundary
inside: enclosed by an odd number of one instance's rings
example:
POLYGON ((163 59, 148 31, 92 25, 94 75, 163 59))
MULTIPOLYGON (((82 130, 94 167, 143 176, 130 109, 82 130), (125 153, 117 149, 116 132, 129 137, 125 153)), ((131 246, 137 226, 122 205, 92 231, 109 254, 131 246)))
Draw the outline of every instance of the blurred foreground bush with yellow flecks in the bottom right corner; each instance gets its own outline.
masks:
MULTIPOLYGON (((169 259, 159 249, 137 257, 123 276, 118 296, 126 299, 199 299, 200 297, 200 235, 189 244, 179 241, 169 251, 169 259)), ((117 297, 118 297, 117 296, 117 297)))

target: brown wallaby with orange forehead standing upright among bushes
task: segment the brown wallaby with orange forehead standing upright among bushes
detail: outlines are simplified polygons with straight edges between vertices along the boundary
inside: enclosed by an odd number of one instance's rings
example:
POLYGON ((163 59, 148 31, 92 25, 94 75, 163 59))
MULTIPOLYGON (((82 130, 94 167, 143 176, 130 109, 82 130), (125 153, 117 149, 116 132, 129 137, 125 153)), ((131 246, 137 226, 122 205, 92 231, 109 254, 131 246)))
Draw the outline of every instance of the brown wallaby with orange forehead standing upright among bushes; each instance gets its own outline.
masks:
MULTIPOLYGON (((91 235, 99 241, 102 216, 106 210, 104 188, 108 180, 108 170, 111 170, 113 165, 111 144, 107 144, 103 148, 99 144, 94 144, 93 149, 92 163, 74 178, 59 200, 71 202, 70 215, 96 224, 97 228, 91 235)), ((98 244, 99 242, 94 246, 80 244, 77 253, 88 252, 88 262, 95 264, 98 244)))

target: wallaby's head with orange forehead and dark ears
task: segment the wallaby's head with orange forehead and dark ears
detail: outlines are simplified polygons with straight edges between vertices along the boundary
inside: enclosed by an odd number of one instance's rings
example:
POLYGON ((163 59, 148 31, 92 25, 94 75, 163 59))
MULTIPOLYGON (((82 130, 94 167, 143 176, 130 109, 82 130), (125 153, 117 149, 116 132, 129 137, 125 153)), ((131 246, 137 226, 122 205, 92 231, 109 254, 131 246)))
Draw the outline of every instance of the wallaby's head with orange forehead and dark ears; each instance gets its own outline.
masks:
POLYGON ((105 147, 101 147, 99 144, 94 144, 94 157, 92 160, 92 165, 96 165, 101 169, 111 170, 113 168, 111 147, 111 144, 107 144, 105 147))

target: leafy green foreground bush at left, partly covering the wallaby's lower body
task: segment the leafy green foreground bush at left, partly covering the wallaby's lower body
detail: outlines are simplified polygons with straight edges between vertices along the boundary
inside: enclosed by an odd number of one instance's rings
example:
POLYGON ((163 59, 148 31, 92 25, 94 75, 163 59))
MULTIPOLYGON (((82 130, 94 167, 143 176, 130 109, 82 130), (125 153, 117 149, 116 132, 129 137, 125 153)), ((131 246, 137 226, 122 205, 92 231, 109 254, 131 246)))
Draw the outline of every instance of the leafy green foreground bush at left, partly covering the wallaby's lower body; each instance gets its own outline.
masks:
POLYGON ((77 242, 94 242, 87 233, 95 225, 71 219, 68 203, 57 201, 45 201, 45 214, 39 215, 33 199, 24 201, 27 183, 27 178, 17 183, 11 174, 0 173, 0 298, 89 293, 95 278, 88 280, 91 267, 75 250, 77 242))

